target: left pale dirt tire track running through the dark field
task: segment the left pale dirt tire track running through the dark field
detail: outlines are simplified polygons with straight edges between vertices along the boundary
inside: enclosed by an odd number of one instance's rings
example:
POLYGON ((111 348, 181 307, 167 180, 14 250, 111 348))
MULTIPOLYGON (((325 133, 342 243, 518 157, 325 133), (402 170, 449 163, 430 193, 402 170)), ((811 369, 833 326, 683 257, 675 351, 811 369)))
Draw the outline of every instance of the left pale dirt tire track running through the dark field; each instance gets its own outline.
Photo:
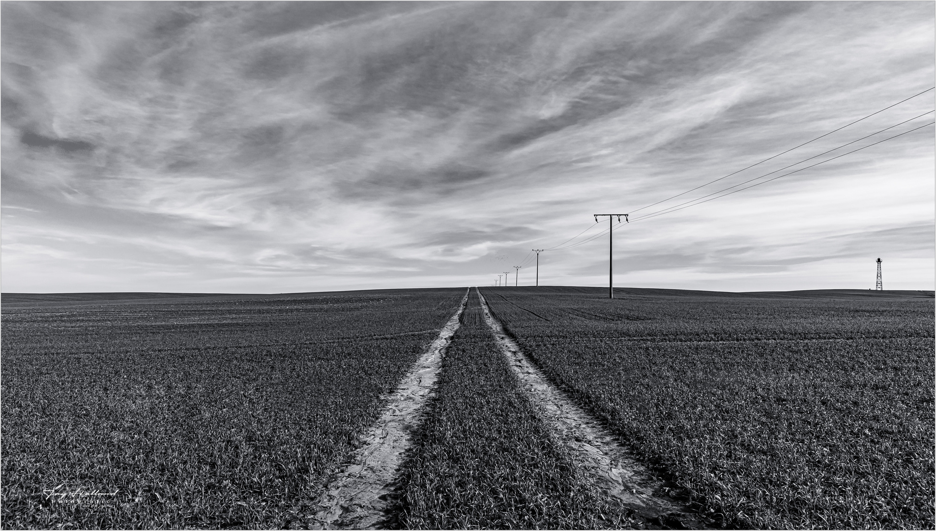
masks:
POLYGON ((419 426, 420 410, 435 385, 446 347, 459 329, 470 292, 465 292, 459 310, 388 396, 384 413, 359 437, 361 446, 319 499, 316 522, 310 528, 373 529, 387 518, 391 502, 386 498, 399 481, 402 453, 419 426))

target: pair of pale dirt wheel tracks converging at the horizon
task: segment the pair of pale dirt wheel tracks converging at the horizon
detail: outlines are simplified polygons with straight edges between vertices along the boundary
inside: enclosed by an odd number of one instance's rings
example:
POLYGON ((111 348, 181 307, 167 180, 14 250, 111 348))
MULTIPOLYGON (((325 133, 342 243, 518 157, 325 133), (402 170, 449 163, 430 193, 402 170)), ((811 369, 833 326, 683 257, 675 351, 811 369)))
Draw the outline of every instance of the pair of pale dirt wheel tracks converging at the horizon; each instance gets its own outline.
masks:
MULTIPOLYGON (((665 482, 638 463, 600 422, 548 382, 491 315, 484 296, 477 288, 475 290, 490 331, 521 385, 543 412, 543 420, 563 444, 575 451, 578 465, 597 480, 602 492, 623 507, 634 510, 651 525, 706 527, 680 501, 660 494, 665 482)), ((423 406, 431 397, 446 347, 459 328, 469 293, 470 290, 431 347, 389 397, 383 415, 360 437, 363 444, 352 454, 351 463, 329 483, 318 502, 314 527, 374 529, 388 524, 391 517, 388 509, 392 504, 388 498, 398 486, 402 454, 409 448, 411 436, 423 420, 423 406)))

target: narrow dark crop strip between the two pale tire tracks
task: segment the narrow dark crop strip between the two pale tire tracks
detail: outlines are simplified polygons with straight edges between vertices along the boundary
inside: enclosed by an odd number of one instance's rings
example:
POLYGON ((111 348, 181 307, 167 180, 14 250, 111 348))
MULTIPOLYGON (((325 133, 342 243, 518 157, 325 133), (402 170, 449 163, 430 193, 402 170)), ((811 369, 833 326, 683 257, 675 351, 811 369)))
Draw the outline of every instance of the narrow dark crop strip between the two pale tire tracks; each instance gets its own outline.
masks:
POLYGON ((397 525, 592 529, 634 524, 551 438, 472 292, 427 419, 403 465, 397 525))

